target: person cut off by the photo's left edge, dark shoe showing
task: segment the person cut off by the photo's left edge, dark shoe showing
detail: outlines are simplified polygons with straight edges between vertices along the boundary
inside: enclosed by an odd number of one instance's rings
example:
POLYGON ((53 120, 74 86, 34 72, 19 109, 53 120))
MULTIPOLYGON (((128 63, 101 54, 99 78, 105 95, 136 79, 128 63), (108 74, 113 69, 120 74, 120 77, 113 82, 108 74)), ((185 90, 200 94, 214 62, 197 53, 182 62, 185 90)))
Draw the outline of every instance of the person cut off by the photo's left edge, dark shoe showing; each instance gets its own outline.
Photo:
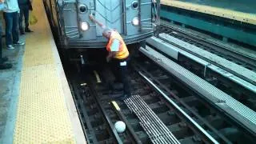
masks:
MULTIPOLYGON (((6 5, 4 0, 0 0, 0 10, 5 9, 6 5)), ((8 58, 2 57, 2 19, 0 19, 0 70, 10 69, 11 64, 5 63, 8 61, 8 58)))

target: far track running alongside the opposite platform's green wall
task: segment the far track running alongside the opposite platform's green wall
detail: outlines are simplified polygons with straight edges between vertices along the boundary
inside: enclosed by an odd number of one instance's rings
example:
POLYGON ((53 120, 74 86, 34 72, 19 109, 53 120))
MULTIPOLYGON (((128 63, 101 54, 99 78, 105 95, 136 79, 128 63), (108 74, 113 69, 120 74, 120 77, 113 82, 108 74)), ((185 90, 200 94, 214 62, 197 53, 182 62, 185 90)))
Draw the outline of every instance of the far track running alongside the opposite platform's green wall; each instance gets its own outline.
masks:
POLYGON ((241 50, 234 50, 230 46, 224 46, 217 42, 210 42, 205 38, 198 37, 196 34, 190 34, 186 30, 168 25, 162 22, 160 32, 170 34, 171 36, 188 42, 194 46, 207 50, 210 53, 216 54, 222 58, 226 58, 230 62, 237 63, 246 69, 256 71, 256 58, 249 54, 244 54, 241 50))

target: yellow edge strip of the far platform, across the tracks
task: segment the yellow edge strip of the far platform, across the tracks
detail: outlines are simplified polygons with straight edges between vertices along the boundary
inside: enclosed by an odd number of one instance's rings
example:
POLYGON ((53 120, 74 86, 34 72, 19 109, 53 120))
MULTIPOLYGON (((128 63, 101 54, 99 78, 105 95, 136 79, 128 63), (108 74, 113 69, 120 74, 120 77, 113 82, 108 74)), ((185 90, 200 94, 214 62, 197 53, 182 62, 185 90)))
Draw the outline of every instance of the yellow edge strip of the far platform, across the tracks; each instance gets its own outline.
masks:
POLYGON ((203 6, 190 2, 179 2, 176 0, 161 0, 162 5, 174 6, 181 9, 193 10, 205 14, 211 14, 222 18, 230 18, 239 22, 246 22, 256 25, 256 14, 243 13, 234 10, 226 10, 213 6, 203 6))

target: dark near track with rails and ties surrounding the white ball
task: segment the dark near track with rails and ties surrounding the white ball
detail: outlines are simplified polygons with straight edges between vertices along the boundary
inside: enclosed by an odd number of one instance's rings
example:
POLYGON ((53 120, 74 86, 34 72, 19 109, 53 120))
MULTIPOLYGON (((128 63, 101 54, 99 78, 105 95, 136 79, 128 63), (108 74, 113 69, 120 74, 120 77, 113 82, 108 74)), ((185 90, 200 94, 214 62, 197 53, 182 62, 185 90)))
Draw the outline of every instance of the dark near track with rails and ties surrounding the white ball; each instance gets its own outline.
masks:
MULTIPOLYGON (((228 118, 223 118, 207 102, 202 102, 197 95, 187 90, 186 86, 181 85, 177 79, 172 78, 149 59, 138 58, 132 67, 130 79, 134 94, 140 95, 178 142, 252 142, 252 136, 246 135, 241 127, 230 122, 228 118)), ((138 115, 131 112, 126 102, 116 101, 121 110, 113 106, 113 99, 120 96, 120 93, 109 90, 107 83, 111 74, 106 71, 98 74, 101 82, 97 82, 93 71, 69 76, 87 141, 161 143, 152 140, 152 135, 149 136, 138 115), (114 122, 118 120, 126 122, 126 133, 118 134, 114 130, 114 122)))

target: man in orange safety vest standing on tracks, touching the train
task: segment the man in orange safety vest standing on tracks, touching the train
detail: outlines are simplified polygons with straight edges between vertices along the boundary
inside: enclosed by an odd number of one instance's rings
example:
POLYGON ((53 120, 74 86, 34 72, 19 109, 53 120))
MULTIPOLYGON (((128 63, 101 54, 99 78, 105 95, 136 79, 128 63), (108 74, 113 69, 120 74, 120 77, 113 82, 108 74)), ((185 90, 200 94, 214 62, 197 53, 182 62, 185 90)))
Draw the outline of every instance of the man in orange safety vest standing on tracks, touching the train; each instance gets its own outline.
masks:
POLYGON ((126 47, 126 43, 123 41, 122 36, 117 30, 107 28, 101 22, 98 22, 92 14, 90 14, 90 19, 102 28, 102 35, 108 39, 106 45, 106 50, 108 51, 106 62, 111 62, 112 71, 115 74, 117 81, 120 81, 123 84, 124 94, 121 99, 125 100, 126 98, 130 98, 130 82, 127 78, 129 51, 126 47))

